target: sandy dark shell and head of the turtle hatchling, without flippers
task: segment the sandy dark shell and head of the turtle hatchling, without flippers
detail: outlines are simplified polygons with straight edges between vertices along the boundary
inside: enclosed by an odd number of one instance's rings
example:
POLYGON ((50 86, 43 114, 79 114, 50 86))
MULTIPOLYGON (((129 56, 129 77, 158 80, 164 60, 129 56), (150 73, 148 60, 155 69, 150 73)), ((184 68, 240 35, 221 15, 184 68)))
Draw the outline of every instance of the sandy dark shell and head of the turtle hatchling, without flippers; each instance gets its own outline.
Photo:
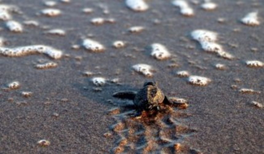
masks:
POLYGON ((134 98, 134 104, 142 110, 158 108, 164 100, 163 92, 154 82, 146 82, 134 98))

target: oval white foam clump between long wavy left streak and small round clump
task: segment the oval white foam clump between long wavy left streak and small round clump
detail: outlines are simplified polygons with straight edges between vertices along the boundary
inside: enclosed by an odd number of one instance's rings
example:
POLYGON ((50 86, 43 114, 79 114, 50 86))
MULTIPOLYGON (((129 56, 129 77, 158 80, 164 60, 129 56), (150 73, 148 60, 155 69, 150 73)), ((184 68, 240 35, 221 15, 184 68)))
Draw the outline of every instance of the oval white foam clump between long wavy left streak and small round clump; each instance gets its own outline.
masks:
POLYGON ((90 50, 92 52, 102 52, 105 50, 105 47, 101 43, 91 39, 84 39, 83 46, 85 49, 90 50))

